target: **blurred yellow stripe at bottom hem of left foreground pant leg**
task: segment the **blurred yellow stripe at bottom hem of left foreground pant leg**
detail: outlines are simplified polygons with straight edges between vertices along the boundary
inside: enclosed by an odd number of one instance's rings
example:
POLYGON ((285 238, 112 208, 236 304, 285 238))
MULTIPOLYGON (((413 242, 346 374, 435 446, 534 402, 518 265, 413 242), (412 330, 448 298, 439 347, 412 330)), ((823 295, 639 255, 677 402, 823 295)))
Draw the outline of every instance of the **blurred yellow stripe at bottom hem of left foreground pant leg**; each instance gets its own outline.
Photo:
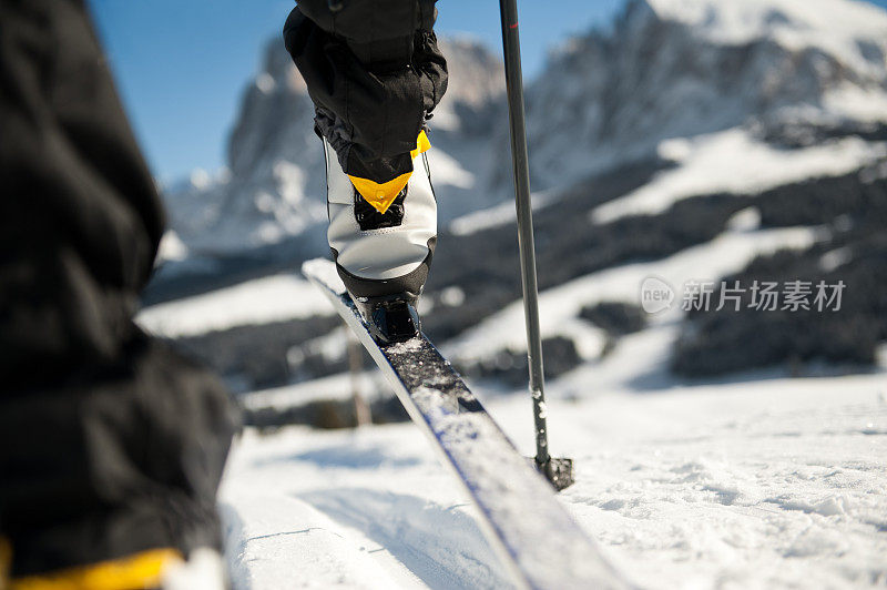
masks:
POLYGON ((12 580, 10 590, 136 590, 159 588, 163 570, 182 561, 175 549, 151 549, 111 561, 12 580))

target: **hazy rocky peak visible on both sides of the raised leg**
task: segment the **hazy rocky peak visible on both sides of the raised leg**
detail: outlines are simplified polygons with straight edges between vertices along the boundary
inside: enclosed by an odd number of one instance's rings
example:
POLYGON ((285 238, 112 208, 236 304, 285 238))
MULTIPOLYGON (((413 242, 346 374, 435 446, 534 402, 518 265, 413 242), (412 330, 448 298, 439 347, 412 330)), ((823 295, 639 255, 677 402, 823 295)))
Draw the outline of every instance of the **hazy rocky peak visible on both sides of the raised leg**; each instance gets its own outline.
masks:
MULTIPOLYGON (((500 61, 470 39, 441 42, 449 92, 435 113, 432 157, 441 217, 490 204, 470 191, 489 174, 489 132, 502 112, 500 61), (472 196, 471 200, 468 196, 472 196)), ((220 254, 274 244, 326 222, 323 148, 307 88, 279 40, 244 91, 227 166, 198 171, 166 192, 172 230, 192 251, 220 254)), ((323 240, 323 238, 319 238, 323 240)))

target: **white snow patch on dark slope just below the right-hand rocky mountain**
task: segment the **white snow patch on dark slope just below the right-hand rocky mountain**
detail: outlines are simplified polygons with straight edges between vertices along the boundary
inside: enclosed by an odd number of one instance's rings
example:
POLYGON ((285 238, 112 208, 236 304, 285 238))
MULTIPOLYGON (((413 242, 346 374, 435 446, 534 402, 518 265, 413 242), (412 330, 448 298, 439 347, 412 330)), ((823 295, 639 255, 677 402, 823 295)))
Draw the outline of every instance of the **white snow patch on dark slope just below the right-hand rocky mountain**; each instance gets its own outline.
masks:
POLYGON ((660 146, 663 157, 680 160, 675 169, 660 172, 640 189, 595 207, 594 223, 629 215, 655 214, 675 202, 718 192, 757 194, 782 184, 816 176, 838 176, 887 155, 885 144, 858 138, 781 150, 735 128, 692 139, 675 139, 660 146))

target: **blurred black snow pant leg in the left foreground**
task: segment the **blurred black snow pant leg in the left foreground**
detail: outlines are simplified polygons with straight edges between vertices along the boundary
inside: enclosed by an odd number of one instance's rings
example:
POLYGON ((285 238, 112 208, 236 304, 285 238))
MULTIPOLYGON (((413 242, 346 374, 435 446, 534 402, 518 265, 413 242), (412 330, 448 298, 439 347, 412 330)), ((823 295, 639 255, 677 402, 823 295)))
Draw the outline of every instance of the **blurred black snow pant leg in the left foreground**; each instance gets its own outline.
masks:
POLYGON ((0 191, 13 576, 218 547, 236 414, 220 382, 133 323, 163 213, 83 0, 0 0, 0 191))

